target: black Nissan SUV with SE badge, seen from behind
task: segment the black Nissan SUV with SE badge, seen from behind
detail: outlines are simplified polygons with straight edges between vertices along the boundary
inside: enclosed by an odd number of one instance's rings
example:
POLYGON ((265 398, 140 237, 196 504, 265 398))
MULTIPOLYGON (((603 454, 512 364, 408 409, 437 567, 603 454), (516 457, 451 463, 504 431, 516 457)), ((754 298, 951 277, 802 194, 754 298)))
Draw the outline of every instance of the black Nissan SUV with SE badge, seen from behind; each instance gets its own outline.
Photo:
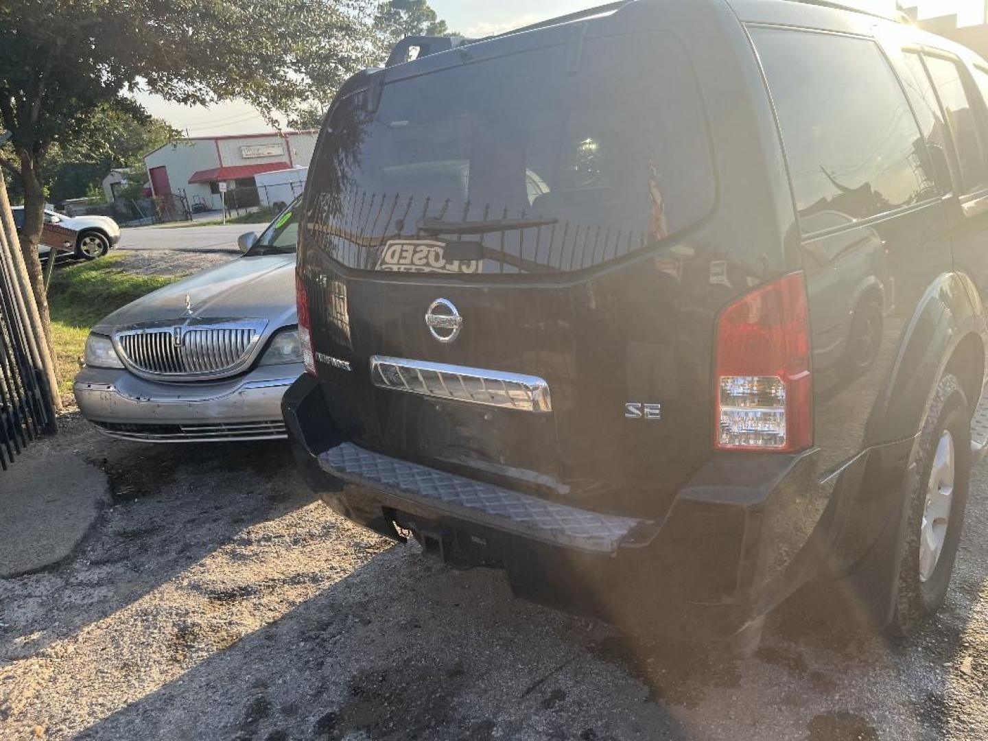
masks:
POLYGON ((988 64, 794 0, 419 42, 309 171, 284 411, 325 501, 618 624, 744 635, 814 579, 935 613, 988 437, 988 64))

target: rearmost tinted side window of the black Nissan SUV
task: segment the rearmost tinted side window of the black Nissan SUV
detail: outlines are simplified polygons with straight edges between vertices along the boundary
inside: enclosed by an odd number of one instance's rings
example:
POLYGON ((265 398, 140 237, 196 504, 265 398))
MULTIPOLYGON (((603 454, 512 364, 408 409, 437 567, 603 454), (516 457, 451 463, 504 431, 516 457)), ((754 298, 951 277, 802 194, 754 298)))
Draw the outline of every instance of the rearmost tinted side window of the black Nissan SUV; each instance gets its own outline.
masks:
POLYGON ((804 233, 938 195, 898 79, 869 40, 753 30, 804 233))

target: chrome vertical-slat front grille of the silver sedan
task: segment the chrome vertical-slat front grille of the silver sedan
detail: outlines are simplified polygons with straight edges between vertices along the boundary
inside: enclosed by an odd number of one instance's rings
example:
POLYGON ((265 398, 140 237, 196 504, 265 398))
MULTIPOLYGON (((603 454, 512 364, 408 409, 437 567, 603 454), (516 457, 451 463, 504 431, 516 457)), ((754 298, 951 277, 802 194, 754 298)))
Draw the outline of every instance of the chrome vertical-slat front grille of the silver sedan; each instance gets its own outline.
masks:
POLYGON ((231 320, 126 327, 116 335, 117 351, 138 375, 227 375, 250 360, 266 325, 262 320, 231 320))

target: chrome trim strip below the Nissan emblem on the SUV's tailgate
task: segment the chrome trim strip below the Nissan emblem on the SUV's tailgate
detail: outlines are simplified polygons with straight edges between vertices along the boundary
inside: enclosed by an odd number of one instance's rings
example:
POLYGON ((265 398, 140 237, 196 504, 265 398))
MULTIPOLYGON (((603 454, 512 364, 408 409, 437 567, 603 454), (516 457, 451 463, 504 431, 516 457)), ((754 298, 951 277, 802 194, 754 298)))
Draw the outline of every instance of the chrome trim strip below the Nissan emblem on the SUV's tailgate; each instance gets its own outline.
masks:
POLYGON ((378 388, 422 396, 526 412, 552 411, 549 384, 535 375, 375 355, 371 382, 378 388))

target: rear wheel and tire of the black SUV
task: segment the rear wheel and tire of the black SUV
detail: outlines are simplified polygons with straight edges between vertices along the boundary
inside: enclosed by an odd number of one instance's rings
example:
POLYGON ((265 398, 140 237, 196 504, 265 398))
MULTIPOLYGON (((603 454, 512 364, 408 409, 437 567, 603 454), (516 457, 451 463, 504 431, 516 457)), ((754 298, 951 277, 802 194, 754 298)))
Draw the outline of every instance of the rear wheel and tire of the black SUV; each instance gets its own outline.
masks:
POLYGON ((918 472, 906 493, 895 610, 890 629, 905 635, 944 605, 963 529, 971 475, 970 407, 960 380, 937 385, 913 453, 918 472))

